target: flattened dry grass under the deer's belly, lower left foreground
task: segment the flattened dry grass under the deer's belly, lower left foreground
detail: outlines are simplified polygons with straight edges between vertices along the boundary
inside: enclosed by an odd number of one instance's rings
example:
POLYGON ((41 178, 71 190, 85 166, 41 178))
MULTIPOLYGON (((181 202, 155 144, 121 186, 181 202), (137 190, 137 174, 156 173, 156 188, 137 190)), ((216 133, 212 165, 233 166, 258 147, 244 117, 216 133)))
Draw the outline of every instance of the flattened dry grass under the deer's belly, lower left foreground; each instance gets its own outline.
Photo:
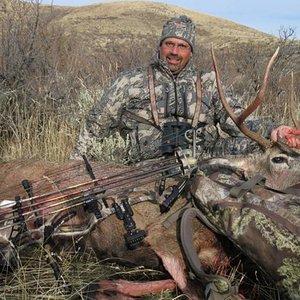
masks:
MULTIPOLYGON (((60 269, 70 289, 59 288, 53 269, 46 261, 41 247, 29 248, 21 255, 20 266, 13 274, 0 277, 0 299, 83 299, 84 289, 100 279, 153 280, 165 274, 143 267, 122 267, 116 263, 99 261, 92 251, 63 252, 60 269)), ((164 292, 143 299, 174 299, 176 294, 164 292)))

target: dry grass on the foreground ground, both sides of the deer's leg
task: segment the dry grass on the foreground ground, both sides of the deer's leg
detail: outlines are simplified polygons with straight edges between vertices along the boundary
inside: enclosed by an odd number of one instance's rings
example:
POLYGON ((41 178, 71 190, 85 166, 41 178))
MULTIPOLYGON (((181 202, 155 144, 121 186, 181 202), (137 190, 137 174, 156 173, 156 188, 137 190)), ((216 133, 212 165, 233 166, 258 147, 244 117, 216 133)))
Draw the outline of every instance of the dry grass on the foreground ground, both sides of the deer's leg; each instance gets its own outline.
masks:
MULTIPOLYGON (((101 279, 149 281, 167 278, 166 273, 140 267, 124 267, 109 260, 99 261, 93 251, 84 253, 63 251, 60 270, 69 289, 60 288, 53 269, 47 263, 41 246, 23 250, 20 265, 13 274, 0 275, 0 299, 5 300, 79 300, 85 288, 101 279)), ((267 277, 249 261, 236 257, 228 279, 240 285, 240 292, 250 300, 275 300, 277 291, 267 277), (246 269, 245 269, 246 266, 246 269), (250 266, 250 267, 249 267, 250 266), (251 270, 251 267, 253 268, 251 270)), ((144 300, 188 299, 180 291, 162 292, 141 297, 144 300)))

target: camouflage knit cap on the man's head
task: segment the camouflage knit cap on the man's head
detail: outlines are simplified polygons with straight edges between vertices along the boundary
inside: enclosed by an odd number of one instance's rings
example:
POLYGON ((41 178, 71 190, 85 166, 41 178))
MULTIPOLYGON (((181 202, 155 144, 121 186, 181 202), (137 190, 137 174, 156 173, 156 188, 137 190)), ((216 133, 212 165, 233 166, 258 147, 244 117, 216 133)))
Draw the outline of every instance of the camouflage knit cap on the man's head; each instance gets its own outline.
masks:
POLYGON ((188 42, 193 50, 195 46, 195 25, 187 16, 175 17, 168 20, 163 27, 159 45, 168 37, 183 39, 188 42))

